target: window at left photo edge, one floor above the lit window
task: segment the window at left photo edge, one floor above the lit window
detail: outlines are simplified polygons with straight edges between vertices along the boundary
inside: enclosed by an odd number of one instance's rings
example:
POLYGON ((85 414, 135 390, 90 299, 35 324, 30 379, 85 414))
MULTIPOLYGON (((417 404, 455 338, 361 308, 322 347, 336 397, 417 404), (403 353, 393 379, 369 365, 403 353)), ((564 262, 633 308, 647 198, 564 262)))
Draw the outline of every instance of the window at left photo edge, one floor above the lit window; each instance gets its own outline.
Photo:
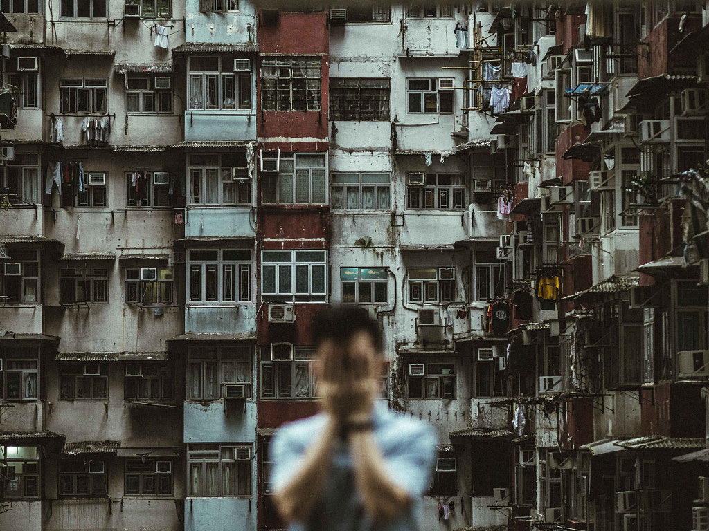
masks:
POLYGON ((5 400, 37 400, 39 350, 4 348, 0 350, 0 396, 5 400), (4 392, 4 394, 3 394, 4 392))

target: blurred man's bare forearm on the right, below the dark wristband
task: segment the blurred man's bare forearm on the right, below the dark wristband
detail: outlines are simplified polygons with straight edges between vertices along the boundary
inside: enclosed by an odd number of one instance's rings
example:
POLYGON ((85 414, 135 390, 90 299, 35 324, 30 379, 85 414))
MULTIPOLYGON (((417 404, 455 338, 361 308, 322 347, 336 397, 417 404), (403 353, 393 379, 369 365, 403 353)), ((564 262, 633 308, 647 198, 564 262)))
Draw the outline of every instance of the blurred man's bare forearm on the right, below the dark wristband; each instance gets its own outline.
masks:
POLYGON ((352 450, 354 476, 364 506, 374 518, 392 518, 408 506, 408 493, 389 479, 384 456, 370 431, 354 431, 348 440, 352 450))

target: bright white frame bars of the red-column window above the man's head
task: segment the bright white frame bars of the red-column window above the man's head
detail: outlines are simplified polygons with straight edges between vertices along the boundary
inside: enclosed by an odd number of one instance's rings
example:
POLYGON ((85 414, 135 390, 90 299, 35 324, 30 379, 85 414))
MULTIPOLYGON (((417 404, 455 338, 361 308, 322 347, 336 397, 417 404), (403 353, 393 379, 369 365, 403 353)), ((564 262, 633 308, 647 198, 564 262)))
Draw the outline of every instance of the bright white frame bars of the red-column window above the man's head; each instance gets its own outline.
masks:
MULTIPOLYGON (((261 294, 265 302, 328 302, 328 251, 325 249, 296 249, 294 251, 261 251, 261 294), (310 261, 299 255, 304 253, 323 253, 323 261, 310 261), (289 256, 290 255, 290 256, 289 256), (274 260, 277 257, 283 261, 274 260), (307 292, 296 292, 296 278, 298 268, 307 268, 308 290, 307 292), (266 271, 273 268, 274 289, 266 289, 266 271), (290 287, 281 291, 281 268, 290 269, 290 287), (323 290, 316 291, 313 287, 313 270, 322 268, 323 270, 323 290)), ((301 269, 302 271, 302 269, 301 269)))

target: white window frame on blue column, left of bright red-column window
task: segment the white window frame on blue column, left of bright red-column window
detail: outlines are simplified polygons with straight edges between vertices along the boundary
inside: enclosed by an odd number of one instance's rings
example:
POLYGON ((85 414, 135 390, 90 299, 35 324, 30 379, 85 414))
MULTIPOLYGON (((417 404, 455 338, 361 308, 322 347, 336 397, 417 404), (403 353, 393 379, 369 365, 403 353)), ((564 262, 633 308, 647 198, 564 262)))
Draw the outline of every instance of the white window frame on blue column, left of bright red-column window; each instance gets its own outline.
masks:
MULTIPOLYGON (((187 250, 187 274, 186 274, 186 304, 188 306, 203 306, 205 304, 218 304, 223 306, 235 306, 238 304, 248 304, 252 302, 251 275, 252 275, 253 255, 250 249, 188 249, 187 250), (193 258, 194 253, 204 251, 215 251, 216 260, 205 260, 193 258), (240 252, 249 253, 249 258, 230 259, 224 258, 224 253, 240 252), (216 266, 216 294, 213 299, 207 299, 208 268, 216 266), (192 292, 193 275, 198 273, 200 277, 199 295, 192 292), (225 300, 225 268, 234 268, 234 300, 225 300), (242 278, 245 277, 245 278, 242 278), (247 279, 247 280, 245 280, 247 279), (195 298, 196 297, 196 298, 195 298)), ((195 279, 196 280, 196 279, 195 279)))

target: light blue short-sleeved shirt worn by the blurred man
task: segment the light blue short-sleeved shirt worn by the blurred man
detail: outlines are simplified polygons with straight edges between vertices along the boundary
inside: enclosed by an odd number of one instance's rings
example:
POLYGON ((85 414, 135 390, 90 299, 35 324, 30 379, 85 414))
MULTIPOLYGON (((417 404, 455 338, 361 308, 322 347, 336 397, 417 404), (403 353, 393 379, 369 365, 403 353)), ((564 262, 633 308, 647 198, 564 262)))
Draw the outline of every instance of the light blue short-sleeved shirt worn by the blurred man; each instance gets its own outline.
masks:
MULTIPOLYGON (((434 430, 418 419, 374 407, 374 438, 379 442, 391 481, 404 489, 413 503, 392 520, 374 522, 364 511, 354 484, 352 460, 345 442, 333 450, 323 497, 307 522, 291 523, 291 531, 415 531, 420 529, 420 501, 428 488, 437 443, 434 430)), ((271 481, 275 490, 293 479, 301 459, 325 429, 327 416, 318 413, 277 430, 269 453, 273 462, 271 481)))

